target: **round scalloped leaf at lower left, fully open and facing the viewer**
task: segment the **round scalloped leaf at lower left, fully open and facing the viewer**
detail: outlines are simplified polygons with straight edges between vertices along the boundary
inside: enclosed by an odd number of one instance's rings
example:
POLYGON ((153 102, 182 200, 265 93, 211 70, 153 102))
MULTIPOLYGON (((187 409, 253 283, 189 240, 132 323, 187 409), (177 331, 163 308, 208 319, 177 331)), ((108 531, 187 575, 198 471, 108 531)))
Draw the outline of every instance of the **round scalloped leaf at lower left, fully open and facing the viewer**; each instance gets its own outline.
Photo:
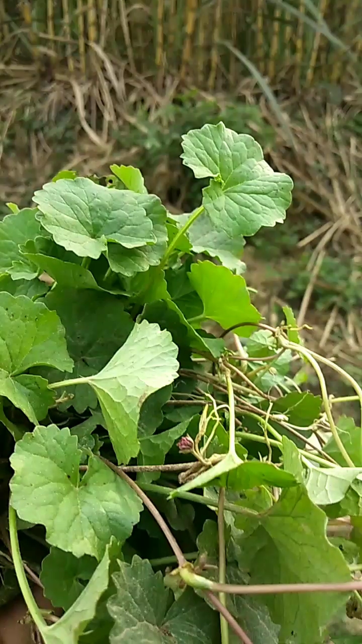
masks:
POLYGON ((68 428, 37 427, 11 457, 12 506, 20 518, 46 527, 46 540, 61 550, 103 556, 111 536, 124 542, 142 504, 128 484, 91 456, 79 474, 81 450, 68 428))

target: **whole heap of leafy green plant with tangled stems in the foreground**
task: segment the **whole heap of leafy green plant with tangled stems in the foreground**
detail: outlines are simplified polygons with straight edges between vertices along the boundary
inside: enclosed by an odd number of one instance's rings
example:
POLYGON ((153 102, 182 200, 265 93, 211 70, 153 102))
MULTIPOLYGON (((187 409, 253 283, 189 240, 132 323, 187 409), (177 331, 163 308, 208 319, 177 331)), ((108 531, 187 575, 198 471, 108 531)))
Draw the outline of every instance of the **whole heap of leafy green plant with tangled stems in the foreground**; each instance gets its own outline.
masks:
POLYGON ((3 556, 45 644, 317 644, 360 611, 362 430, 336 423, 320 365, 361 406, 362 390, 291 309, 262 321, 242 276, 245 237, 283 222, 291 178, 222 123, 182 146, 209 178, 193 213, 114 165, 59 173, 0 223, 3 556), (298 384, 305 363, 320 396, 298 384))

